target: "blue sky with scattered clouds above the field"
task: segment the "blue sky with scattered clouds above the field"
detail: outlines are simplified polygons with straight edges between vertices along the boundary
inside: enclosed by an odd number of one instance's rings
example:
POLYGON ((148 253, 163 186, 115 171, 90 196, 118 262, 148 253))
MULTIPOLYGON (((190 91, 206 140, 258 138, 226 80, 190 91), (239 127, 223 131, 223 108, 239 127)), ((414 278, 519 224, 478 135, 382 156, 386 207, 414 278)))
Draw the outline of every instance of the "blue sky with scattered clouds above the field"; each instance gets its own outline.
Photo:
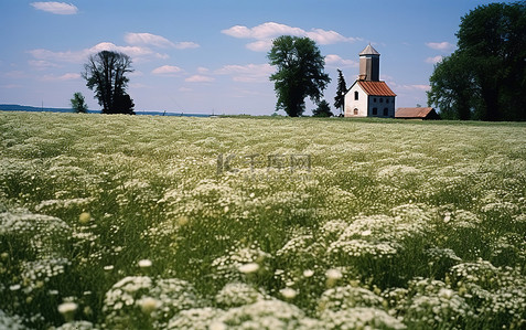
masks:
MULTIPOLYGON (((276 107, 267 52, 281 34, 310 36, 332 83, 347 85, 368 44, 397 107, 426 105, 433 63, 455 49, 471 0, 1 0, 0 104, 68 107, 82 92, 89 54, 132 57, 128 93, 137 111, 270 115, 276 107)), ((314 106, 308 103, 305 115, 314 106)), ((334 109, 333 109, 334 110, 334 109)))

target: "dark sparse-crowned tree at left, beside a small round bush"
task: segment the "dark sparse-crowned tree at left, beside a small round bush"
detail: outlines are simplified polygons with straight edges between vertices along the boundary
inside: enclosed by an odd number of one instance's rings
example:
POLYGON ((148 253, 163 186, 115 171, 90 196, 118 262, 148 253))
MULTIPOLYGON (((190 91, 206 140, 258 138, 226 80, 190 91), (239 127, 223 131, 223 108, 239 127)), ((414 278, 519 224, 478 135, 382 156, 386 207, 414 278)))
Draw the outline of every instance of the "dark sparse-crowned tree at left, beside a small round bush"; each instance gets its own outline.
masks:
POLYGON ((131 98, 126 94, 131 70, 131 58, 122 53, 101 51, 88 57, 83 77, 86 86, 95 91, 95 97, 103 107, 103 114, 132 114, 131 98), (130 103, 128 102, 128 98, 130 103))

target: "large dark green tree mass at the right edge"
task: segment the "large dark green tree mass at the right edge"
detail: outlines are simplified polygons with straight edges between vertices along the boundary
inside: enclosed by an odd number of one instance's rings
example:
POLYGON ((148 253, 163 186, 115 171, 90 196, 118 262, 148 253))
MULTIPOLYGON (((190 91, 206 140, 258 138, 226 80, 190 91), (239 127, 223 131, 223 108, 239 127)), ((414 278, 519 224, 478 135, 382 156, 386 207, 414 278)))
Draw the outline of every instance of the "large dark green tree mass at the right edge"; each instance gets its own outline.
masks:
POLYGON ((429 103, 449 118, 526 120, 526 2, 480 6, 457 36, 458 50, 434 67, 429 103))

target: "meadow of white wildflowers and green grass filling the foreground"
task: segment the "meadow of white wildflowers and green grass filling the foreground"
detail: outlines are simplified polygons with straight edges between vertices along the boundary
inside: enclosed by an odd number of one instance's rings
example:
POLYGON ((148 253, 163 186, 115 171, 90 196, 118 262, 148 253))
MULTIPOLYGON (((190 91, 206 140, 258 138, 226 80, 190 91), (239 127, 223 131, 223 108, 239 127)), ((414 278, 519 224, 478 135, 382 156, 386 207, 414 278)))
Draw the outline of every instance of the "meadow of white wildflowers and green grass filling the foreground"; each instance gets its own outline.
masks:
POLYGON ((526 125, 0 113, 0 329, 524 329, 526 125))

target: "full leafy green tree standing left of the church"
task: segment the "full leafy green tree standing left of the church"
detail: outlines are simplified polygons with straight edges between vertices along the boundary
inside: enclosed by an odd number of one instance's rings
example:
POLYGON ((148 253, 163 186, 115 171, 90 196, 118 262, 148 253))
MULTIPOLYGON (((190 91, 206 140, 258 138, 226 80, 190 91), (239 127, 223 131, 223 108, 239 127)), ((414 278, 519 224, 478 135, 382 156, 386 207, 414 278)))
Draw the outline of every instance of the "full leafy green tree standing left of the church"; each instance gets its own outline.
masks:
POLYGON ((331 82, 324 73, 324 57, 315 42, 307 36, 282 35, 275 39, 268 58, 271 65, 278 67, 270 76, 278 96, 276 108, 283 109, 291 117, 303 114, 305 97, 318 103, 331 82))

